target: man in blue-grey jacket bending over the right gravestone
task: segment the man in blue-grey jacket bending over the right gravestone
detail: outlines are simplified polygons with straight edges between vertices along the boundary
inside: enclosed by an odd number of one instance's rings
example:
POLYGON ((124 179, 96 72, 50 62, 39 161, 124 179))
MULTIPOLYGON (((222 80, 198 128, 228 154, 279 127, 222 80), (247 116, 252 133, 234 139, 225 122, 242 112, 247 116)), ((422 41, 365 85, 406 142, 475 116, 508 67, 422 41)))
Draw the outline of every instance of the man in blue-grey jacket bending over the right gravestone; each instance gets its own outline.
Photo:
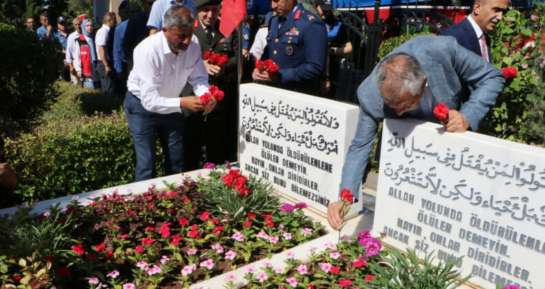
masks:
MULTIPOLYGON (((439 36, 418 36, 397 47, 373 69, 357 89, 359 120, 342 169, 341 189, 359 195, 361 178, 373 149, 379 122, 384 118, 417 118, 439 122, 433 108, 450 109, 442 120, 448 133, 477 130, 490 106, 502 92, 504 74, 456 43, 439 36), (462 103, 460 83, 473 89, 462 103)), ((340 195, 340 194, 339 194, 340 195)), ((328 205, 328 222, 339 230, 342 202, 328 205)))

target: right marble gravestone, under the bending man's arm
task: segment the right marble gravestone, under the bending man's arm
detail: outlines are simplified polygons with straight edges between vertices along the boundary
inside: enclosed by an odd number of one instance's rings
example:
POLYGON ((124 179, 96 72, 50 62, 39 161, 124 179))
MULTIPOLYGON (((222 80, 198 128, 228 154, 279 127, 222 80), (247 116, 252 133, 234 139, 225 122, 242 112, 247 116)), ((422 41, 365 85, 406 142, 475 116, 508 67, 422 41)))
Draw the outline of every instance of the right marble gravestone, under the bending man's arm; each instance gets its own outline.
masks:
POLYGON ((545 149, 420 120, 384 122, 374 231, 483 288, 545 288, 545 149))

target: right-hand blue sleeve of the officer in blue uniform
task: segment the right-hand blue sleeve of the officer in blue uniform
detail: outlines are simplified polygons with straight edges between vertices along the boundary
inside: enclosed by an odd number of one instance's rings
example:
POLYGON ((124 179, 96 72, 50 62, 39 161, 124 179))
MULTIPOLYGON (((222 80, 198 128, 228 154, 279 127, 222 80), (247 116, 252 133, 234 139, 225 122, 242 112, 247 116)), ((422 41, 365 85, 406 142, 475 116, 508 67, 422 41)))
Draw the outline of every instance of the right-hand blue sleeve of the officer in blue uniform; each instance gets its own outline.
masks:
POLYGON ((328 33, 321 21, 311 21, 302 34, 305 63, 297 67, 279 67, 279 84, 286 85, 319 76, 326 67, 328 33))

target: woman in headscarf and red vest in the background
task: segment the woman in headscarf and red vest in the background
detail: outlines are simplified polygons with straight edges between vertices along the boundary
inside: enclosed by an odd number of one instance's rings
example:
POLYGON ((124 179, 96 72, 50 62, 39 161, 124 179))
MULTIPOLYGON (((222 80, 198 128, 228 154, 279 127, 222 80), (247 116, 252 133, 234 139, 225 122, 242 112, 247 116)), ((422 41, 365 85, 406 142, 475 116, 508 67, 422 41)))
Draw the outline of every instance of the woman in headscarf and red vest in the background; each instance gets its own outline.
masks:
POLYGON ((96 67, 97 52, 95 51, 93 24, 90 19, 86 19, 81 25, 83 33, 76 39, 74 68, 83 85, 97 89, 100 87, 100 76, 96 67))

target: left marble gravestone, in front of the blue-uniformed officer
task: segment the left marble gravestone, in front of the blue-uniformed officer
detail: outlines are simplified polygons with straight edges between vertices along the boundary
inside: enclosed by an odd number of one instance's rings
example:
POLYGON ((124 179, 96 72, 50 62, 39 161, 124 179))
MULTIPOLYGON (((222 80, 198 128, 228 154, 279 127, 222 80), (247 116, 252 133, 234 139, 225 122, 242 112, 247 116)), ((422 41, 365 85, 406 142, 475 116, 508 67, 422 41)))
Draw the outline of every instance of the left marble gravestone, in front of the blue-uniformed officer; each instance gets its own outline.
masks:
MULTIPOLYGON (((266 178, 282 195, 326 215, 328 204, 338 200, 358 114, 359 107, 347 103, 254 83, 241 85, 241 170, 266 178)), ((353 207, 351 213, 359 211, 353 207)))

